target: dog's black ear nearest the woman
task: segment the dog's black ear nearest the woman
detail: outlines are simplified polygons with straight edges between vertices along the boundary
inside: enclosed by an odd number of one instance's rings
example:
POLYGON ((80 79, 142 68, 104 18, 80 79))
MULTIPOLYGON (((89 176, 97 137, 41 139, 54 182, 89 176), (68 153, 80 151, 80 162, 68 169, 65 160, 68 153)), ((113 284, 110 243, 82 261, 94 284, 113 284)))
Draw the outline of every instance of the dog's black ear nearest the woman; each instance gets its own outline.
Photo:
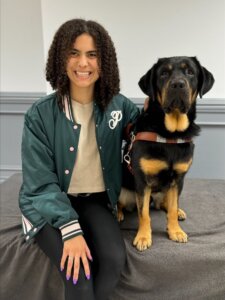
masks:
POLYGON ((155 65, 138 82, 142 92, 148 95, 153 101, 155 100, 154 73, 155 65))

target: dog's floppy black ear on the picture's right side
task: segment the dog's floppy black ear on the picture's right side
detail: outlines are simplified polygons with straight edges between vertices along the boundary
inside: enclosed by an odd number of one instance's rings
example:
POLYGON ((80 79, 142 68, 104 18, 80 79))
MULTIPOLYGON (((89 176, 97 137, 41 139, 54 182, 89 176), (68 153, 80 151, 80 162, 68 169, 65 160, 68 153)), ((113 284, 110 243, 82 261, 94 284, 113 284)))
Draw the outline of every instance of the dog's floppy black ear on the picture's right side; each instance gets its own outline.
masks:
POLYGON ((209 72, 206 68, 204 68, 200 62, 197 60, 196 57, 194 57, 194 60, 199 68, 199 88, 198 88, 198 92, 200 95, 200 98, 202 98, 202 96, 204 94, 206 94, 213 86, 214 84, 214 77, 212 75, 211 72, 209 72))

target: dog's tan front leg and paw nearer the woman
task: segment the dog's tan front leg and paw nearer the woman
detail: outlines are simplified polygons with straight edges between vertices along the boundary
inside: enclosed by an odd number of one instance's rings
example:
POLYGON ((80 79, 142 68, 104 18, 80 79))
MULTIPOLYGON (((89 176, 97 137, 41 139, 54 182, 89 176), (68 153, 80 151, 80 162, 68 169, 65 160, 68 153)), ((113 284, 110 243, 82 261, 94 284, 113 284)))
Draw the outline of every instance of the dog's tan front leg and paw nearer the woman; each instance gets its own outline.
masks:
POLYGON ((138 209, 139 227, 133 245, 139 251, 146 250, 152 244, 151 219, 149 213, 151 189, 145 188, 144 195, 136 193, 136 202, 138 209))

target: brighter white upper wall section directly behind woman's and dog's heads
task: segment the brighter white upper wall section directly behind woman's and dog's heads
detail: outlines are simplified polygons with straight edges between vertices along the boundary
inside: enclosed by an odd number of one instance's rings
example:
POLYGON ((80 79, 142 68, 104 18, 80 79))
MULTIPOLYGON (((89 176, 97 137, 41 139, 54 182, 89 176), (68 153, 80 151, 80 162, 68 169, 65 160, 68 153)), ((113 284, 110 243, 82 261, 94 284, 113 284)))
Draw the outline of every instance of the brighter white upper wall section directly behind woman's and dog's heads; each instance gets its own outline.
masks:
POLYGON ((100 22, 117 49, 122 92, 143 97, 137 82, 159 57, 196 55, 215 76, 206 97, 225 97, 224 0, 42 0, 44 52, 53 34, 76 17, 100 22))

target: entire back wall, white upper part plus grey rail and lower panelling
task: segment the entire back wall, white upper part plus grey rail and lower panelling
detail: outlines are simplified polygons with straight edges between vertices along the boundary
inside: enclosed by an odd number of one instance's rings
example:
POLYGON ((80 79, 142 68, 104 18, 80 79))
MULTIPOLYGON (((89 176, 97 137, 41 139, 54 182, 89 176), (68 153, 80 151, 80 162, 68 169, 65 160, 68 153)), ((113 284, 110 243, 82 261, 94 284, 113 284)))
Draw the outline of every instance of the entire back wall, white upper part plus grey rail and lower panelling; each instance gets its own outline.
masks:
POLYGON ((144 98, 137 82, 159 57, 197 55, 213 72, 212 91, 198 101, 197 121, 203 128, 188 175, 225 179, 225 0, 0 3, 0 181, 21 171, 23 115, 51 91, 44 80, 49 45, 58 27, 76 17, 94 19, 109 31, 117 48, 122 92, 137 103, 144 98))

